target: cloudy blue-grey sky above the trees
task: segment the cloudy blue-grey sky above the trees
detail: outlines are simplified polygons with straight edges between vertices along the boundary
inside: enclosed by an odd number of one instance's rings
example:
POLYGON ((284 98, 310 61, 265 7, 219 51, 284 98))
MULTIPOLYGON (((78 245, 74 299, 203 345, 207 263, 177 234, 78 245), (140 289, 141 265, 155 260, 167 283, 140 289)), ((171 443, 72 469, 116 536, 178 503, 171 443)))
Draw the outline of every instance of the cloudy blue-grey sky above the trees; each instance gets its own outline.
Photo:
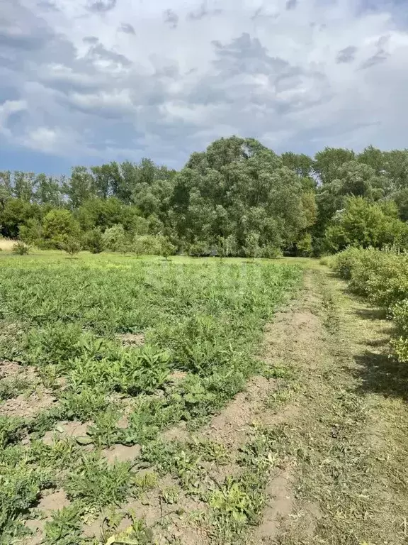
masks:
POLYGON ((0 0, 0 170, 407 148, 402 0, 0 0))

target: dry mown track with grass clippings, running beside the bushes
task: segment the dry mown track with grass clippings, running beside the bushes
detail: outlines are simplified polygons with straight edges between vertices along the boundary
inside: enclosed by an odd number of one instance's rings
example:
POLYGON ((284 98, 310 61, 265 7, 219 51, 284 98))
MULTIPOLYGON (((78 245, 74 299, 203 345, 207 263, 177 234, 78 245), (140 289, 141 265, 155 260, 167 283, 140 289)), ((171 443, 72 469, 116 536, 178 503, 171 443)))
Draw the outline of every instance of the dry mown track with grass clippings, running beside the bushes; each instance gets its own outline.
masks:
POLYGON ((389 335, 327 269, 305 271, 304 292, 266 336, 271 362, 295 380, 281 417, 263 415, 284 456, 251 543, 408 542, 408 375, 388 356, 389 335))

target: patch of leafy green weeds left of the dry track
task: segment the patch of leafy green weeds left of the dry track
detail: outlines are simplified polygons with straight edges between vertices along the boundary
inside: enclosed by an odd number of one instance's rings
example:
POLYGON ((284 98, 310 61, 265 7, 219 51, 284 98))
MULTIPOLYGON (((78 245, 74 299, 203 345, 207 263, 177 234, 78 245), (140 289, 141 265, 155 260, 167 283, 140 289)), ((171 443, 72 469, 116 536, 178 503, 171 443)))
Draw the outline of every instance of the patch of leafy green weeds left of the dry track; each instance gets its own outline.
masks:
MULTIPOLYGON (((106 448, 159 456, 166 429, 220 411, 262 373, 263 325, 300 277, 266 260, 2 252, 1 543, 30 534, 45 490, 69 505, 47 512, 44 542, 69 545, 84 539, 85 519, 154 485, 106 448), (67 421, 87 427, 69 437, 67 421)), ((132 528, 135 542, 150 542, 142 523, 132 528)))

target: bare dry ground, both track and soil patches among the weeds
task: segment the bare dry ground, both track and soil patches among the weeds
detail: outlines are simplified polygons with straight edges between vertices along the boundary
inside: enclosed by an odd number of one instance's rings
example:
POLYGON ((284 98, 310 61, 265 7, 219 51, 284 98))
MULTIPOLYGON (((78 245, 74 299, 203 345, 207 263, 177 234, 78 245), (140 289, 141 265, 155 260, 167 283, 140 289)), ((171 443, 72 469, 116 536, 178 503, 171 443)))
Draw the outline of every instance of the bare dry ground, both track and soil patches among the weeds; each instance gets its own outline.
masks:
MULTIPOLYGON (((47 544, 407 543, 408 375, 390 358, 390 322, 317 260, 280 262, 300 266, 303 283, 263 328, 263 373, 203 424, 166 429, 156 450, 103 448, 110 464, 132 461, 130 475, 144 492, 115 512, 81 515, 71 540, 49 533, 47 544), (132 524, 132 535, 122 534, 132 524)), ((123 338, 144 342, 140 334, 123 338)), ((8 376, 21 373, 7 365, 8 376)), ((0 405, 0 414, 28 410, 33 396, 40 409, 55 402, 38 376, 23 379, 39 385, 0 405)), ((184 379, 171 375, 175 385, 184 379)), ((75 448, 89 451, 91 424, 56 422, 42 441, 79 439, 75 448)), ((43 493, 25 543, 45 539, 52 510, 69 505, 64 490, 43 493)))

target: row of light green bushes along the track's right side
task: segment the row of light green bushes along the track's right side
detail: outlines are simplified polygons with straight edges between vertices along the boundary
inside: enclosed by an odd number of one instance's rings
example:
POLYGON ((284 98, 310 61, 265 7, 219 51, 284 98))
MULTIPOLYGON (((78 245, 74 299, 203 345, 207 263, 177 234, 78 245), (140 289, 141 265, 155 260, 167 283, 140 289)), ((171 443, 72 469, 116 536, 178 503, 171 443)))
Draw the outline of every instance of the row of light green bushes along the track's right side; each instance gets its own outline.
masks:
POLYGON ((392 317, 395 355, 408 362, 408 253, 348 248, 332 258, 331 265, 354 292, 368 297, 392 317))

